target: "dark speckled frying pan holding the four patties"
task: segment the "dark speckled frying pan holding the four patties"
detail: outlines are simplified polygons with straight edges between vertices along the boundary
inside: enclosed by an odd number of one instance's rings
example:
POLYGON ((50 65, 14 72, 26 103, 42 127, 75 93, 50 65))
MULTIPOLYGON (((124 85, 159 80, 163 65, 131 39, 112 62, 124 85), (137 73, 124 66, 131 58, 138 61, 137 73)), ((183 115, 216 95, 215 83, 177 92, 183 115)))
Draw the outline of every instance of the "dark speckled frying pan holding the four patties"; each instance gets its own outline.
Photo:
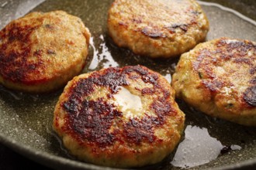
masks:
MULTIPOLYGON (((111 0, 0 0, 0 29, 12 19, 25 15, 29 11, 48 12, 61 9, 80 17, 92 33, 90 53, 85 70, 83 70, 84 73, 108 66, 140 64, 161 73, 168 81, 171 81, 171 74, 174 73, 178 58, 147 59, 131 53, 128 49, 117 48, 109 39, 106 32, 106 13, 111 3, 111 0)), ((254 0, 213 0, 200 3, 210 24, 206 40, 228 36, 256 41, 256 22, 254 22, 256 3, 254 0)), ((0 142, 21 155, 50 168, 107 169, 79 162, 68 155, 61 141, 52 132, 54 106, 62 90, 32 95, 14 92, 0 86, 0 142)), ((187 168, 256 168, 255 128, 209 117, 197 111, 196 108, 189 107, 182 100, 177 100, 177 102, 186 114, 185 126, 199 129, 199 131, 192 132, 192 136, 205 130, 211 138, 219 141, 223 146, 220 155, 209 163, 187 168), (237 149, 232 146, 237 146, 237 149)), ((182 141, 185 138, 184 134, 182 141)), ((202 147, 199 148, 203 148, 205 144, 200 145, 202 147)), ((202 155, 204 151, 202 149, 202 155)), ((176 150, 164 162, 146 168, 179 169, 170 163, 175 158, 175 152, 176 150)))

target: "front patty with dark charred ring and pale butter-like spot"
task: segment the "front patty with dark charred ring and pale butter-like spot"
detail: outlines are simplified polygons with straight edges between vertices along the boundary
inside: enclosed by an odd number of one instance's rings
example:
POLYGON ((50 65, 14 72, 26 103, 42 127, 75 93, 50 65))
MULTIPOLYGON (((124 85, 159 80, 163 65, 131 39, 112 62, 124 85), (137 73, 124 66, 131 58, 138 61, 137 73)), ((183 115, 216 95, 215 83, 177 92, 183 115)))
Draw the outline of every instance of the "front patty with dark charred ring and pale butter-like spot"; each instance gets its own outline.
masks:
POLYGON ((110 67, 74 77, 54 110, 54 131, 85 162, 139 167, 177 145, 185 115, 175 92, 144 66, 110 67))

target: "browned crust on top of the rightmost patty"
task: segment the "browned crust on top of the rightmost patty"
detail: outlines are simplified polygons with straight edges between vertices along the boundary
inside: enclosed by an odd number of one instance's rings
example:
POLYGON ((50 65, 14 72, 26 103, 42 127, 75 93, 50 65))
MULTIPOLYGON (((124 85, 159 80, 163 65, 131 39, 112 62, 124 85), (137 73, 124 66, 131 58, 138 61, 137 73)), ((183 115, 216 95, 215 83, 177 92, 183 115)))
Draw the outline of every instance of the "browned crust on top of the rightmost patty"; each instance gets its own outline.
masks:
MULTIPOLYGON (((197 54, 197 59, 193 63, 195 72, 199 74, 202 72, 203 80, 202 86, 206 87, 211 92, 212 96, 218 93, 219 89, 223 87, 231 87, 232 81, 223 79, 223 77, 216 76, 214 68, 216 66, 222 66, 224 62, 230 62, 230 65, 247 65, 248 70, 244 75, 236 73, 237 79, 241 76, 250 76, 250 79, 246 82, 247 88, 241 92, 241 95, 237 98, 237 101, 242 101, 242 107, 255 107, 256 106, 256 75, 255 71, 255 52, 256 45, 253 42, 247 40, 235 40, 234 42, 228 42, 228 39, 219 39, 215 42, 216 49, 201 49, 197 54), (247 52, 251 51, 253 56, 248 57, 247 52)), ((237 68, 239 69, 239 68, 237 68)), ((236 70, 234 70, 236 72, 236 70)), ((230 73, 231 74, 231 73, 230 73)), ((202 76, 202 75, 201 75, 202 76)), ((228 76, 228 75, 227 75, 228 76)), ((202 77, 201 77, 202 79, 202 77)))

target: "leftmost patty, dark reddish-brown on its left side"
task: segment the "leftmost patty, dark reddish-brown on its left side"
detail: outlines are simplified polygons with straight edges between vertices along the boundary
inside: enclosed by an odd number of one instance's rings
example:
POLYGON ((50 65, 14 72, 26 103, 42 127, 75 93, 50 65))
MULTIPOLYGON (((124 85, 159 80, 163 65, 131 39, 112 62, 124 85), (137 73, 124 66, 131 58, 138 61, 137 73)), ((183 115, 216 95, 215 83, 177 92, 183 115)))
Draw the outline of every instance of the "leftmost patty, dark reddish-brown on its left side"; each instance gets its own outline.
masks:
POLYGON ((40 93, 64 86, 85 66, 90 33, 66 12, 32 12, 0 32, 0 83, 40 93))

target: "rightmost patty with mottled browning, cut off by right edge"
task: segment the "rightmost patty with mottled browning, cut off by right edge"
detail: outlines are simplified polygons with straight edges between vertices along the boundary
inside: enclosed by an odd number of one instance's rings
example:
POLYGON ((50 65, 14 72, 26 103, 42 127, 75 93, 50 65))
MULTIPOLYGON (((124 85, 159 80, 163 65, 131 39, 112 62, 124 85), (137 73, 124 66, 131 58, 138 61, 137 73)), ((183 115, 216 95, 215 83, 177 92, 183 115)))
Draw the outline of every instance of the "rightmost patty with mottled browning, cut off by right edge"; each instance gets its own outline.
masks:
POLYGON ((172 77, 176 97, 213 117, 256 125, 256 43, 214 39, 182 55, 172 77))

